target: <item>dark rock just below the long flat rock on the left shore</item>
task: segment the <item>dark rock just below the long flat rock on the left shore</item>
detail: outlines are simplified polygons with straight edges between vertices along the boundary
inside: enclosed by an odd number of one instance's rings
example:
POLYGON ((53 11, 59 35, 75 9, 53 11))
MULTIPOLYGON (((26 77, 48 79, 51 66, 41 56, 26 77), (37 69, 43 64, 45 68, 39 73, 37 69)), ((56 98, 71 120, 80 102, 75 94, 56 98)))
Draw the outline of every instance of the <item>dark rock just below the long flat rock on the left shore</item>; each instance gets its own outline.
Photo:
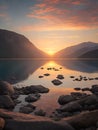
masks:
POLYGON ((26 98, 26 102, 36 102, 40 98, 40 94, 29 94, 26 98))

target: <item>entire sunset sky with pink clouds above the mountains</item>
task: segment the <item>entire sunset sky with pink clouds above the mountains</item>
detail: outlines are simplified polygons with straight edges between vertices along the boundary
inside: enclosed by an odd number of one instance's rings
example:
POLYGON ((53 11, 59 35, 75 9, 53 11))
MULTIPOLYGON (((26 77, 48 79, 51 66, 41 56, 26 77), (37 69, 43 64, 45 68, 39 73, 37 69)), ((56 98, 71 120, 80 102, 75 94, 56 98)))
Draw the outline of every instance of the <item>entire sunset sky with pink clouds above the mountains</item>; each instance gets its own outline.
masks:
POLYGON ((25 35, 50 54, 98 43, 98 0, 0 0, 0 28, 25 35))

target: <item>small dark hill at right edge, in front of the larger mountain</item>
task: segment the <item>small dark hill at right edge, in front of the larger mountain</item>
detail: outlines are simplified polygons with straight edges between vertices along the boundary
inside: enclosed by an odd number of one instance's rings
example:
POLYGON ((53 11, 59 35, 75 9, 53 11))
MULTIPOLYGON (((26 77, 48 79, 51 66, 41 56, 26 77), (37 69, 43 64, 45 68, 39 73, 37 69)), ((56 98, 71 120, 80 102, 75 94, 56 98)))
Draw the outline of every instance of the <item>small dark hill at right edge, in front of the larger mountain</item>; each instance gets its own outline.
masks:
POLYGON ((89 51, 80 56, 80 58, 98 58, 98 49, 89 51))

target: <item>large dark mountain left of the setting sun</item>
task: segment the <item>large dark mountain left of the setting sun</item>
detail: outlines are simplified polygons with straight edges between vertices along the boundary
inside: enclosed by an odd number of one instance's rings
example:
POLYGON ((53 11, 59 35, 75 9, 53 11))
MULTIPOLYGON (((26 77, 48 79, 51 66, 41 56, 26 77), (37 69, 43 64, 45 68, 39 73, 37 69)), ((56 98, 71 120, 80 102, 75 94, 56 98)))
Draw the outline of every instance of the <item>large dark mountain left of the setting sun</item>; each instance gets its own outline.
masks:
POLYGON ((46 58, 25 36, 0 29, 0 58, 46 58))

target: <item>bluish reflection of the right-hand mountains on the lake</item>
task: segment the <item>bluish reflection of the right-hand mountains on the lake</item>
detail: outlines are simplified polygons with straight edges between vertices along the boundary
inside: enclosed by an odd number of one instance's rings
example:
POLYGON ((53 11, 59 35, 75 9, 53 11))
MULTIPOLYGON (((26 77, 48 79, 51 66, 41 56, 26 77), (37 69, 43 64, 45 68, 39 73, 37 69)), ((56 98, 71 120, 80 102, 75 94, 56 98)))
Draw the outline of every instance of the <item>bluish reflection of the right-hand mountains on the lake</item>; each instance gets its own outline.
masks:
POLYGON ((58 60, 56 63, 80 72, 98 72, 98 60, 58 60))

